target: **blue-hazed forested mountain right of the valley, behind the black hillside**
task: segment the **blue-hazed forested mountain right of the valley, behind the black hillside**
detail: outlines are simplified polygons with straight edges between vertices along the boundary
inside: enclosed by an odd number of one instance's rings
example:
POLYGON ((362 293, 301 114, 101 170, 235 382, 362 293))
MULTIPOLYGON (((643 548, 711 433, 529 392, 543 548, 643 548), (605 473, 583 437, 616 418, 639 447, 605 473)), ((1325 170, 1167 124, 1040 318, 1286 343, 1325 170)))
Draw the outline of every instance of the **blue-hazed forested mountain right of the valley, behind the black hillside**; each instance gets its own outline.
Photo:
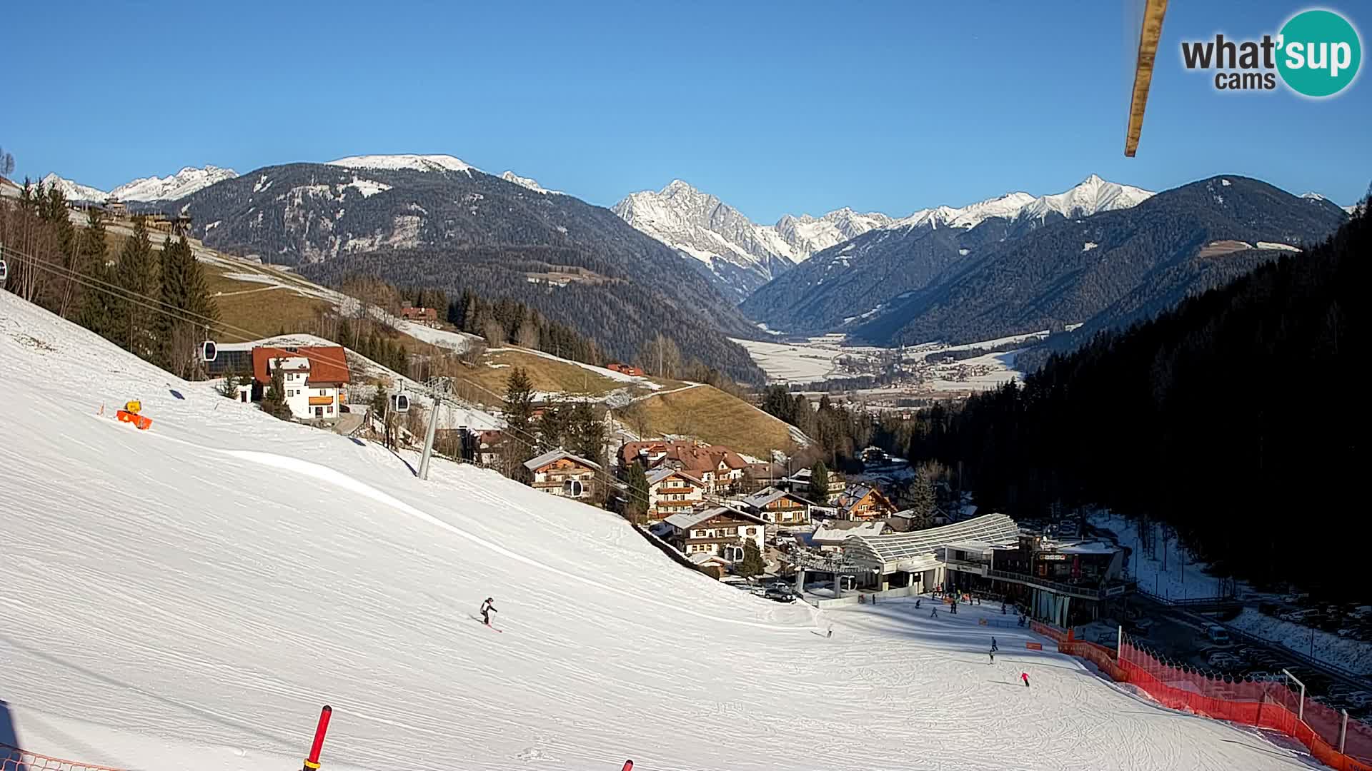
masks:
POLYGON ((853 333, 916 344, 1083 322, 1092 331, 1124 327, 1277 254, 1309 248, 1345 220, 1328 200, 1246 177, 1211 177, 1004 241, 853 333), (1211 246, 1224 241, 1242 247, 1211 246))

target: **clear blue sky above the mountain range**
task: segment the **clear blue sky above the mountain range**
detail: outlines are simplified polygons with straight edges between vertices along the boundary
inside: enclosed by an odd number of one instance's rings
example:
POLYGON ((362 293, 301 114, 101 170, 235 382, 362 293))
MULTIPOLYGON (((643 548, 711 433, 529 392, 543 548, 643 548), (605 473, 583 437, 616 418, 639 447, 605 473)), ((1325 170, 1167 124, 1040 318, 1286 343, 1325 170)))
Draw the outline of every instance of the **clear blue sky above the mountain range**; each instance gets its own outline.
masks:
MULTIPOLYGON (((760 222, 895 215, 1091 173, 1247 174, 1353 203, 1372 88, 1221 95, 1179 41, 1276 32, 1301 3, 1172 3, 1124 158, 1140 0, 1062 3, 25 3, 0 43, 16 177, 110 188, 214 163, 446 152, 591 203, 674 177, 760 222)), ((1345 12, 1368 40, 1372 11, 1345 12)))

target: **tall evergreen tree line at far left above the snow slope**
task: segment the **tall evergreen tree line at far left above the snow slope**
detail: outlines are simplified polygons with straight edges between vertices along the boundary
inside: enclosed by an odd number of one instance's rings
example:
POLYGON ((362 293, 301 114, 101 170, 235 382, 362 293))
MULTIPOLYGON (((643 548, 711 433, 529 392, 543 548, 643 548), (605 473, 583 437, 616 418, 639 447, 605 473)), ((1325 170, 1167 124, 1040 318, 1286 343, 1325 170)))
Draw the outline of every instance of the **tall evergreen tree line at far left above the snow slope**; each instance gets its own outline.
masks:
POLYGON ((0 240, 26 255, 7 258, 8 291, 178 377, 204 376, 199 348, 220 314, 185 236, 167 236, 158 251, 136 217, 133 235, 111 255, 99 209, 88 209, 77 228, 58 187, 25 180, 15 202, 0 203, 0 240))

